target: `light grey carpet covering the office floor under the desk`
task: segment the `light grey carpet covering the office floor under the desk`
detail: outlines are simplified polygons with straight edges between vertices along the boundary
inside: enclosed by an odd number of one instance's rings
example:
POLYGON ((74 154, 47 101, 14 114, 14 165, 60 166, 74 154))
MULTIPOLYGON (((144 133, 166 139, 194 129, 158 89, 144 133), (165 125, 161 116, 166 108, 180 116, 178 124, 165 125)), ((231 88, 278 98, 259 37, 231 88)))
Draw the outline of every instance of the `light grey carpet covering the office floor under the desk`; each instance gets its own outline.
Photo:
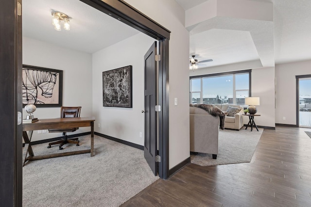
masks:
MULTIPOLYGON (((90 135, 79 140, 80 146, 66 144, 62 152, 90 148, 90 135)), ((59 153, 58 145, 47 145, 33 145, 34 154, 59 153)), ((87 153, 26 162, 23 207, 118 207, 159 179, 143 150, 96 135, 94 149, 94 157, 87 153)))

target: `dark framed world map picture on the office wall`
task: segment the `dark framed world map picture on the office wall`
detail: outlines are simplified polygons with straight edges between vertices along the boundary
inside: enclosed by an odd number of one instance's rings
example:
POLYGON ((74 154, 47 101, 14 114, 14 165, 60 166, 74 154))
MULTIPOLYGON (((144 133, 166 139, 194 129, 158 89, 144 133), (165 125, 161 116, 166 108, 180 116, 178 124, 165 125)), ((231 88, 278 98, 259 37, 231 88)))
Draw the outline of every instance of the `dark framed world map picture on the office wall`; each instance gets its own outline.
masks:
POLYGON ((103 72, 103 106, 132 108, 132 65, 103 72))

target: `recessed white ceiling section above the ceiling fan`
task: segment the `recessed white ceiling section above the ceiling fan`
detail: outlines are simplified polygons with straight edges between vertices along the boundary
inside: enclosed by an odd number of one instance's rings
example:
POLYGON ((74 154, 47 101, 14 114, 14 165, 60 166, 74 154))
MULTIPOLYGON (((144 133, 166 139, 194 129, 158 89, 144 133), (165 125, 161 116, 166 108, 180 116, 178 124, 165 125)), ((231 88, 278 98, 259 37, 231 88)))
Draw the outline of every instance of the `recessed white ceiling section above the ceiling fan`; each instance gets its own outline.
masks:
POLYGON ((191 35, 190 55, 196 55, 198 60, 213 59, 213 62, 204 63, 202 66, 243 62, 245 59, 249 61, 259 59, 250 32, 224 31, 221 29, 211 29, 191 35), (217 42, 212 41, 215 36, 217 42), (236 48, 239 48, 239 50, 236 50, 236 48), (199 56, 196 54, 199 54, 199 56))

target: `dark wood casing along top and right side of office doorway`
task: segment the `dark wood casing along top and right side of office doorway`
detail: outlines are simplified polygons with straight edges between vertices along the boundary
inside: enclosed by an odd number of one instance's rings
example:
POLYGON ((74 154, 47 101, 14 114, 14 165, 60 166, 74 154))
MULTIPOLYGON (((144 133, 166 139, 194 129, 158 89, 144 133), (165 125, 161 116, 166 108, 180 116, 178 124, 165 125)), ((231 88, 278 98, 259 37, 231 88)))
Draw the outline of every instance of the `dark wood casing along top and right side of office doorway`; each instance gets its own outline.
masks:
POLYGON ((119 21, 147 34, 159 42, 158 104, 159 116, 159 177, 169 177, 169 39, 170 31, 124 0, 80 0, 119 21))

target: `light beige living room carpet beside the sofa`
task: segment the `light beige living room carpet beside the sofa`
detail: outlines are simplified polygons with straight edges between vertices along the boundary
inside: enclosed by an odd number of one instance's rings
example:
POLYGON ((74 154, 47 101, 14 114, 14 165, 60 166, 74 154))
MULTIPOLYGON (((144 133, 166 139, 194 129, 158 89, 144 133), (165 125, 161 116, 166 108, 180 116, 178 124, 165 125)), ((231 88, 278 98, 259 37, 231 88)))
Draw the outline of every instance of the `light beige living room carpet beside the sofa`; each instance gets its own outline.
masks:
POLYGON ((250 162, 259 142, 263 129, 259 131, 245 130, 244 127, 237 130, 219 130, 218 155, 212 159, 211 154, 190 153, 191 163, 210 166, 250 162))

